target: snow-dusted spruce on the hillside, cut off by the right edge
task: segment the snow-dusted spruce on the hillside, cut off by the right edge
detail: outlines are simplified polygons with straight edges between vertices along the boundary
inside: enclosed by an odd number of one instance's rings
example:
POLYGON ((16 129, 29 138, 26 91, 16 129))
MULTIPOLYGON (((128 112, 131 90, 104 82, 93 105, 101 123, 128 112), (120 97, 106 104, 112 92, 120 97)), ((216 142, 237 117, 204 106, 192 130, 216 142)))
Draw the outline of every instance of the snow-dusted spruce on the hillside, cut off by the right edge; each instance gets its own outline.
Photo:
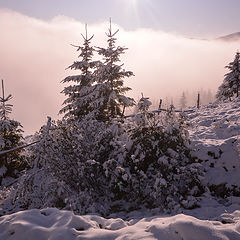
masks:
POLYGON ((237 52, 233 62, 230 62, 226 68, 229 73, 225 74, 223 83, 219 86, 216 98, 218 100, 238 97, 240 91, 240 53, 237 52))

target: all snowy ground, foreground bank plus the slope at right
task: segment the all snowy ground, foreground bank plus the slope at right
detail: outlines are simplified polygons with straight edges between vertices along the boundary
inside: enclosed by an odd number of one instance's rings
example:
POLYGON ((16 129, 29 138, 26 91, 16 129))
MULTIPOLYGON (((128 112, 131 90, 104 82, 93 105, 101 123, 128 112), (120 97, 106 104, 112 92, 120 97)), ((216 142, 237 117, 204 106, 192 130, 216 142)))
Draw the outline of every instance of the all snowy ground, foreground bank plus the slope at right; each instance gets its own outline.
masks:
MULTIPOLYGON (((209 104, 188 115, 205 183, 222 186, 216 190, 220 195, 225 187, 240 187, 240 99, 209 104)), ((175 216, 161 215, 158 209, 108 219, 55 208, 27 210, 0 217, 0 239, 240 240, 240 198, 230 195, 218 199, 207 192, 200 208, 175 216)))

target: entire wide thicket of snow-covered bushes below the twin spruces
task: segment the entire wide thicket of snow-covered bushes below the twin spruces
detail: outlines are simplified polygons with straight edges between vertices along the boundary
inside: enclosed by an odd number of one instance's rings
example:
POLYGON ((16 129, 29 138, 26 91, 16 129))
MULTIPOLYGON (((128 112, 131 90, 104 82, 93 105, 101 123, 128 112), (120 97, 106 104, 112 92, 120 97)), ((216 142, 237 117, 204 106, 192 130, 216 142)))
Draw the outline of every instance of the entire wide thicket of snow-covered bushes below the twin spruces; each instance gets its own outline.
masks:
POLYGON ((161 113, 145 115, 143 124, 133 118, 44 126, 31 148, 32 169, 12 197, 15 207, 103 215, 139 206, 196 207, 203 172, 191 157, 182 119, 161 113))

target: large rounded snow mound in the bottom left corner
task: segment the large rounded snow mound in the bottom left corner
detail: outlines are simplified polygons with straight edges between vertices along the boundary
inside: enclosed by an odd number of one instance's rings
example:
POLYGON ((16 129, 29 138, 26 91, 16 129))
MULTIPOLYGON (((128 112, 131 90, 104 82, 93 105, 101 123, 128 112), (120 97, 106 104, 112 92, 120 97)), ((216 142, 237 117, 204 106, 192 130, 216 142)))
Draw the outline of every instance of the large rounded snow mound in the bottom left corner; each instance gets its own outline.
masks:
POLYGON ((54 208, 27 210, 0 218, 0 239, 76 239, 96 222, 54 208))

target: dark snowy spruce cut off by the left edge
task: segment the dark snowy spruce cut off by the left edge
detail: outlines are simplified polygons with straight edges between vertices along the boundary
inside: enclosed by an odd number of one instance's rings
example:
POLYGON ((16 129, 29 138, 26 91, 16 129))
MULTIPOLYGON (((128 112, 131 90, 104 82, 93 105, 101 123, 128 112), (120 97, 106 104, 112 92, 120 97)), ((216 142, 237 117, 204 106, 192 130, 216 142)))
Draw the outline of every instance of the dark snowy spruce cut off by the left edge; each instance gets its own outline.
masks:
MULTIPOLYGON (((9 114, 12 112, 12 104, 8 101, 12 99, 12 95, 5 97, 4 85, 2 80, 2 97, 0 97, 0 151, 13 149, 21 144, 22 126, 19 122, 11 120, 9 114)), ((5 176, 14 177, 16 170, 20 170, 24 163, 21 156, 22 150, 15 150, 0 155, 0 182, 5 176)))

